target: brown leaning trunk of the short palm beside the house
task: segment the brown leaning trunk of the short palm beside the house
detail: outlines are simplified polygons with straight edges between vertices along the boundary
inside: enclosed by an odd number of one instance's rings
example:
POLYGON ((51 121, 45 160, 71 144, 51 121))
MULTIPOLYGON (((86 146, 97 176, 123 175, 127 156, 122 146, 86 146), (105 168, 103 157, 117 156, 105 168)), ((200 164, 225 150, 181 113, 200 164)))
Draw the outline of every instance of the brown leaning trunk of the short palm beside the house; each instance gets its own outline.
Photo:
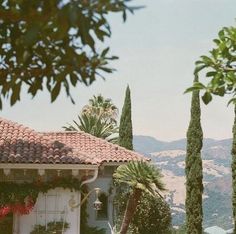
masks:
POLYGON ((126 234, 129 228, 129 224, 134 216, 136 207, 142 195, 142 190, 135 189, 132 194, 129 196, 129 200, 126 205, 125 215, 122 221, 120 234, 126 234))

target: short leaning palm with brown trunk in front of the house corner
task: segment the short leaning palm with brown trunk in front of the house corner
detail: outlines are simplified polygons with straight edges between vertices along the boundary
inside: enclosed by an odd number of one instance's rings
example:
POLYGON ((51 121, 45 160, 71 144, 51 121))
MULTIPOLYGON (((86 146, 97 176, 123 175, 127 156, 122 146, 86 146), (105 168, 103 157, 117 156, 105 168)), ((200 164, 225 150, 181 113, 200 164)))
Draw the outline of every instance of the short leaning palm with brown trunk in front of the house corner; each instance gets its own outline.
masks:
POLYGON ((113 177, 116 183, 128 185, 131 189, 120 229, 120 234, 126 234, 142 193, 161 196, 159 191, 164 191, 165 188, 160 171, 144 161, 119 166, 113 177))

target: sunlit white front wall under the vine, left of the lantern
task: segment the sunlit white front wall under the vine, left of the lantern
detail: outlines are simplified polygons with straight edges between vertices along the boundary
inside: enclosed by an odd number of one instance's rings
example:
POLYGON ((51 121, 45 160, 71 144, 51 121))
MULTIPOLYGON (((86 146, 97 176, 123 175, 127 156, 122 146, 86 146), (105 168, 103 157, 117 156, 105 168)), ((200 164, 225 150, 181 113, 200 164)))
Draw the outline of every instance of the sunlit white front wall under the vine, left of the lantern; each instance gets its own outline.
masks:
POLYGON ((39 194, 33 211, 28 215, 18 216, 14 220, 14 229, 17 234, 29 234, 35 224, 45 225, 47 222, 65 220, 70 227, 65 234, 77 234, 78 232, 78 208, 71 211, 68 201, 74 195, 78 201, 78 192, 69 189, 57 188, 47 194, 39 194))

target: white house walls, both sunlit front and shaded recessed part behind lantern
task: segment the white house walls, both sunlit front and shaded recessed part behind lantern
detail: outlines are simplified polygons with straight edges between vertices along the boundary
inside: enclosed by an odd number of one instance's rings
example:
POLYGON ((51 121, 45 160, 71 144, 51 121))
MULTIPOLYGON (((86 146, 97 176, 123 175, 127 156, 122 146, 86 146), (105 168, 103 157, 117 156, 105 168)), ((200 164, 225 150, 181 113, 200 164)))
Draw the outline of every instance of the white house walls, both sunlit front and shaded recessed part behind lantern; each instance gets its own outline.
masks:
MULTIPOLYGON (((108 219, 98 220, 96 211, 93 208, 93 203, 96 199, 96 194, 93 192, 88 198, 87 212, 89 214, 88 224, 91 227, 106 229, 106 234, 110 234, 108 222, 113 225, 113 196, 109 194, 112 185, 112 176, 100 176, 95 182, 87 184, 89 190, 99 187, 103 193, 109 195, 108 199, 108 219)), ((50 190, 46 194, 39 194, 36 205, 33 211, 28 215, 22 215, 14 218, 14 234, 29 234, 35 224, 45 225, 47 222, 60 221, 65 218, 70 224, 65 234, 79 233, 78 227, 80 222, 79 207, 73 211, 69 207, 69 200, 74 196, 75 202, 79 200, 79 192, 71 192, 69 189, 57 188, 50 190), (65 213, 65 216, 64 216, 65 213)), ((80 233, 86 234, 86 233, 80 233)))

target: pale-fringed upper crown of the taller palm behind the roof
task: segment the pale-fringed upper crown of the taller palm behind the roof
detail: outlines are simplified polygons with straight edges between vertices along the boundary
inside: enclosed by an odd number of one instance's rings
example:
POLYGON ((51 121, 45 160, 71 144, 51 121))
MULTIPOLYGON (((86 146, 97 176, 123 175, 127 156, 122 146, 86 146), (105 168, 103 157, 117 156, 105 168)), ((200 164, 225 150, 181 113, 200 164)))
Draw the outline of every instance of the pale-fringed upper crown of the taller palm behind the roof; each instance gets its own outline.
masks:
POLYGON ((116 123, 118 108, 110 98, 104 98, 101 94, 89 99, 89 104, 84 106, 82 114, 100 116, 104 121, 116 123))

